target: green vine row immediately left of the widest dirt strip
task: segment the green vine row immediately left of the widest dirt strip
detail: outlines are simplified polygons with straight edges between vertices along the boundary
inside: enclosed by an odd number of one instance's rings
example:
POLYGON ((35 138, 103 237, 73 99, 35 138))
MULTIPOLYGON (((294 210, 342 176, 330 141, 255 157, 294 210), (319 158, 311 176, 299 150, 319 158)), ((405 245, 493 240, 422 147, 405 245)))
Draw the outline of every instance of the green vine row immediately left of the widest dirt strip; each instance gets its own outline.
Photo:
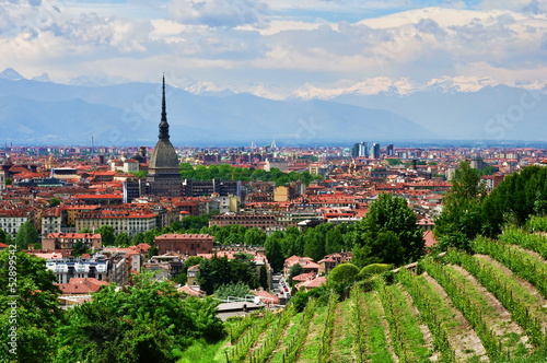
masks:
POLYGON ((441 352, 443 362, 452 362, 455 353, 453 353, 446 330, 450 331, 459 326, 459 323, 454 319, 454 312, 446 306, 444 300, 423 277, 412 277, 406 269, 400 269, 397 278, 411 296, 414 305, 433 335, 433 343, 441 352))

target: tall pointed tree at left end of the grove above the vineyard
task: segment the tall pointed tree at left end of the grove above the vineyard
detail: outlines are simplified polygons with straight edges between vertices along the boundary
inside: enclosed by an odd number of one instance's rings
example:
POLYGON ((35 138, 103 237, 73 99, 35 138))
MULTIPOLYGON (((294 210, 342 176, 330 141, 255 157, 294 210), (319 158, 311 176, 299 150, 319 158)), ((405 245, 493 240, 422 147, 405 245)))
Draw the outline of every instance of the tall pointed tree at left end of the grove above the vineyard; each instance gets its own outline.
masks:
POLYGON ((486 197, 477 169, 468 161, 459 163, 451 190, 443 199, 443 211, 433 231, 441 248, 468 249, 469 241, 482 231, 481 203, 486 197))

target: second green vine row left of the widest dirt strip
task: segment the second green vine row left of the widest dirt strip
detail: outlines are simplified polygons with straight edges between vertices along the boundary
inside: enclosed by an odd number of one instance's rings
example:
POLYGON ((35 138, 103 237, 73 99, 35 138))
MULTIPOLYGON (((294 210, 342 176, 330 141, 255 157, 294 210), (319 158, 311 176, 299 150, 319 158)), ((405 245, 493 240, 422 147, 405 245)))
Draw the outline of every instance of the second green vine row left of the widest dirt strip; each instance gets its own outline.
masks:
POLYGON ((399 360, 429 362, 432 352, 426 347, 418 319, 412 314, 400 285, 392 284, 387 286, 381 283, 379 288, 380 300, 389 323, 392 340, 396 346, 395 351, 399 360))

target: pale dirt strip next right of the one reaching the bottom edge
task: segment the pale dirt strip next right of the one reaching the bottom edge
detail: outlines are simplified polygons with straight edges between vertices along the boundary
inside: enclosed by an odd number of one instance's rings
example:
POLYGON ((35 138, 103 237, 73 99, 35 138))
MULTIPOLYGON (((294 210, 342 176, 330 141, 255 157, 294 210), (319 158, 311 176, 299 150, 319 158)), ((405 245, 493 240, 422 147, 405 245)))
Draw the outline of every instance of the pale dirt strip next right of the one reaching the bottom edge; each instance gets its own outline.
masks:
MULTIPOLYGON (((516 344, 522 342, 526 347, 526 349, 531 350, 532 344, 528 342, 528 337, 522 329, 522 327, 511 319, 511 313, 500 303, 494 295, 492 295, 485 286, 482 286, 477 279, 470 274, 467 270, 463 269, 456 265, 450 265, 451 268, 455 269, 462 276, 464 276, 474 286, 475 289, 485 297, 488 304, 493 308, 493 315, 488 314, 488 312, 484 312, 484 318, 487 320, 487 324, 493 329, 493 332, 498 338, 504 340, 504 338, 511 338, 512 335, 517 335, 520 338, 515 342, 516 344)), ((514 337, 514 336, 513 336, 514 337)))

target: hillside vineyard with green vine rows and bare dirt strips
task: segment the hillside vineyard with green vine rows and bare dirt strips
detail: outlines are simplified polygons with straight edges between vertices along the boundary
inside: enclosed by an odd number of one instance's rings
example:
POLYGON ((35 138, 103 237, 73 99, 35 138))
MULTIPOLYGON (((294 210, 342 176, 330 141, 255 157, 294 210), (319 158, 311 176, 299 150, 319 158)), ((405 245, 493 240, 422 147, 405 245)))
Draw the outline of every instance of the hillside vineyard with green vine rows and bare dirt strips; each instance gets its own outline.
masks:
POLYGON ((546 362, 547 237, 508 229, 310 298, 298 312, 226 324, 228 338, 181 362, 546 362), (364 282, 364 283, 363 283, 364 282))

